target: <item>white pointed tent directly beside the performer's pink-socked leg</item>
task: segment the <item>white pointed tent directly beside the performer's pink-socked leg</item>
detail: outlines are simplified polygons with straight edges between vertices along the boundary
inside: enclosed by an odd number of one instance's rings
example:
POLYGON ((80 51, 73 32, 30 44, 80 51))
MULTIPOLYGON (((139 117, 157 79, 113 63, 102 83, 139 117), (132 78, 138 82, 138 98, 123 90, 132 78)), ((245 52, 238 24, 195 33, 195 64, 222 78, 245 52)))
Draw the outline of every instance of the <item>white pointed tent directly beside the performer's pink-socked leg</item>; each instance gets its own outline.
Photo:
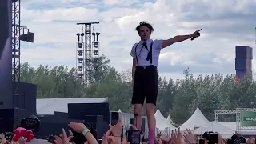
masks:
POLYGON ((166 121, 166 118, 162 115, 159 109, 155 112, 154 117, 156 118, 156 127, 158 128, 158 130, 162 131, 166 130, 166 128, 174 130, 176 128, 175 126, 172 126, 170 122, 166 121))

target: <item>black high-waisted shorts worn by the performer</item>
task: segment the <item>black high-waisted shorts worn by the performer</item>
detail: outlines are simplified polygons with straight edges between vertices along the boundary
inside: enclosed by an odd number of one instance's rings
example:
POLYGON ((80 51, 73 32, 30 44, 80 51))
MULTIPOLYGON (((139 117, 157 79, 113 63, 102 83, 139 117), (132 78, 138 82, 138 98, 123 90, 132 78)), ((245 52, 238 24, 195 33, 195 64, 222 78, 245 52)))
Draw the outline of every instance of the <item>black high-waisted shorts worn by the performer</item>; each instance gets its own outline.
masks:
POLYGON ((134 74, 134 90, 132 104, 152 103, 156 105, 158 98, 158 69, 150 65, 136 66, 134 74))

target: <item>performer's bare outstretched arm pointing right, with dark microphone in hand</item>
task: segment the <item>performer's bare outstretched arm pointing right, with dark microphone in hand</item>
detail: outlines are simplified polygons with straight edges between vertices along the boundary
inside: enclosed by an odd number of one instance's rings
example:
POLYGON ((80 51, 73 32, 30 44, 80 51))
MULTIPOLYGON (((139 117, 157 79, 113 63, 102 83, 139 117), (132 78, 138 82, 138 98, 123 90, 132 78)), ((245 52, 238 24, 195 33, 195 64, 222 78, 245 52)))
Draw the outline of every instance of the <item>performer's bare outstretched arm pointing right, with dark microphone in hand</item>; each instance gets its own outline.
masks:
MULTIPOLYGON (((202 29, 201 29, 202 30, 202 29)), ((192 37, 199 37, 200 34, 198 33, 200 30, 195 31, 193 34, 188 34, 188 35, 177 35, 174 38, 170 38, 167 40, 162 40, 162 48, 166 48, 176 42, 182 42, 187 39, 190 39, 192 37)))

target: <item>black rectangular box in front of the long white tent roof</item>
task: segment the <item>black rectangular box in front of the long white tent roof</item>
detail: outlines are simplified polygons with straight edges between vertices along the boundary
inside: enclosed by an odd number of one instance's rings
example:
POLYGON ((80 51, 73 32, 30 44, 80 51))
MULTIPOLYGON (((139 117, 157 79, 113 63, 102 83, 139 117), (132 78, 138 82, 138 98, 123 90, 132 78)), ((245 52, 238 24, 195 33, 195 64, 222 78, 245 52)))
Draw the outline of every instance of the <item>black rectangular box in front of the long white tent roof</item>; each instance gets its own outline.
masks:
POLYGON ((86 115, 102 115, 103 121, 110 123, 109 103, 69 103, 67 107, 71 119, 84 120, 86 115))

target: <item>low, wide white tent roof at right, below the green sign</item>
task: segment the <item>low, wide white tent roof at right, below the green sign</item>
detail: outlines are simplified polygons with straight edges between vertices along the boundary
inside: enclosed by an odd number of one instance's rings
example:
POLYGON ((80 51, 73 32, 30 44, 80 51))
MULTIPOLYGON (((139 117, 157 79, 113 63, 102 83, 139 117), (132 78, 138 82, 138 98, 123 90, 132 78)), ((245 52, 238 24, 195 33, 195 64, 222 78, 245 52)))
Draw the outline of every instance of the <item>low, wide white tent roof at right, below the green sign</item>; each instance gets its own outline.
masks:
POLYGON ((194 134, 203 134, 206 131, 218 132, 222 134, 222 138, 230 138, 235 134, 235 130, 230 129, 228 126, 222 125, 220 122, 209 122, 205 126, 201 126, 198 129, 194 130, 194 134))

